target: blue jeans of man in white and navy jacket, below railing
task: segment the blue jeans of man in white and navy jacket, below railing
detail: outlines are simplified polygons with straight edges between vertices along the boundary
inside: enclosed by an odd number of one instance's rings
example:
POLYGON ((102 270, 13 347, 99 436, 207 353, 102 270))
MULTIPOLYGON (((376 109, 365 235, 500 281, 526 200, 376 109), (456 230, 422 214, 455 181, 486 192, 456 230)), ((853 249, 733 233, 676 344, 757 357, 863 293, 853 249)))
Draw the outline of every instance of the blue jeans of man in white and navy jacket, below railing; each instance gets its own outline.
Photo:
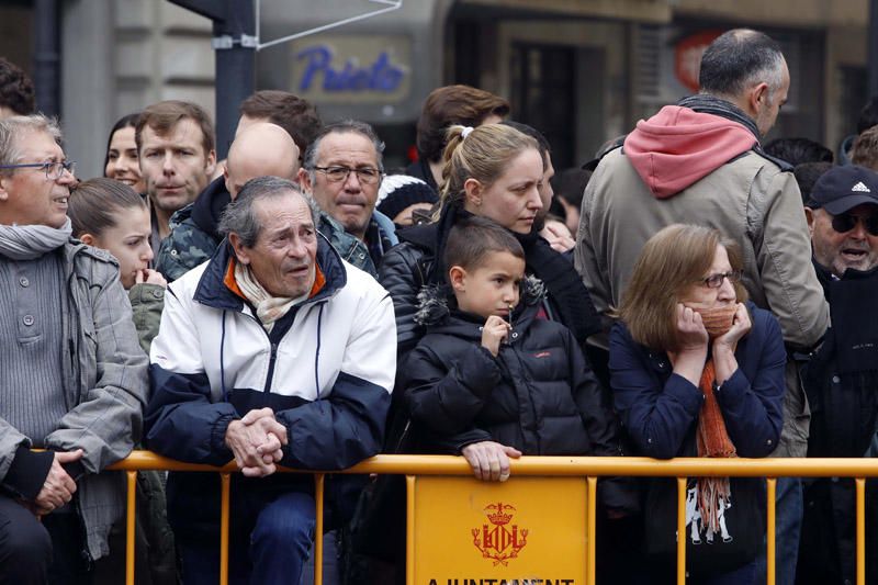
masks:
MULTIPOLYGON (((249 535, 229 535, 228 582, 299 585, 314 539, 314 507, 309 494, 282 494, 262 507, 249 535)), ((183 583, 218 582, 218 536, 216 543, 179 542, 183 583)))

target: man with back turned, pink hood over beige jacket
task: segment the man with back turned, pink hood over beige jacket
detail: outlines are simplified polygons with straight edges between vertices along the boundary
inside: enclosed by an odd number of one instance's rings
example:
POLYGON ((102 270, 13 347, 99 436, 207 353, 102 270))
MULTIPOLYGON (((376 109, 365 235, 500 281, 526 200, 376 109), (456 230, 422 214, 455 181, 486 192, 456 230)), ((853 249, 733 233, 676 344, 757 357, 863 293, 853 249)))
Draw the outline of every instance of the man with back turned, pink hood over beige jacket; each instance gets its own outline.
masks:
MULTIPOLYGON (((673 223, 717 228, 741 246, 743 283, 756 305, 777 316, 789 355, 807 355, 826 330, 829 310, 791 167, 759 145, 787 100, 786 60, 767 35, 732 30, 705 52, 699 83, 700 93, 640 121, 600 160, 583 198, 576 269, 607 333, 610 307, 619 306, 653 234, 673 223)), ((607 348, 606 335, 589 342, 607 348)), ((784 410, 773 455, 804 457, 810 412, 792 360, 784 410)), ((801 505, 799 481, 779 481, 778 584, 795 577, 801 505)))

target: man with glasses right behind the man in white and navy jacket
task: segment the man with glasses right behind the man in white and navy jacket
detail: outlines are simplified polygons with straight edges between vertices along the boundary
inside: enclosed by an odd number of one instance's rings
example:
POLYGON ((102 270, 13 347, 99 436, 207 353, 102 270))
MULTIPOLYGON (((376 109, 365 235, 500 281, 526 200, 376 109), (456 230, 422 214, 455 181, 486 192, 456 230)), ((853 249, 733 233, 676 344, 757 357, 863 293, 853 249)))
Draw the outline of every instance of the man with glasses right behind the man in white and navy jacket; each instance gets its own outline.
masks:
POLYGON ((300 184, 323 210, 319 232, 345 260, 373 277, 384 252, 398 241, 393 222, 375 211, 383 151, 372 126, 346 120, 317 134, 299 171, 300 184), (339 240, 339 228, 357 240, 339 240))

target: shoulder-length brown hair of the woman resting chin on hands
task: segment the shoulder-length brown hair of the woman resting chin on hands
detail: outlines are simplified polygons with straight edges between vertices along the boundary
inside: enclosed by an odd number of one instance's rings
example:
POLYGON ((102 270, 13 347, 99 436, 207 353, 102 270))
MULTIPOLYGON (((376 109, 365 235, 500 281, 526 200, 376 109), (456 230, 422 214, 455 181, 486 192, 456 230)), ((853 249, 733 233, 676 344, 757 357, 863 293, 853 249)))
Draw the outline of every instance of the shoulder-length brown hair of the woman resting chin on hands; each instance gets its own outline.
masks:
MULTIPOLYGON (((717 246, 725 248, 732 270, 743 269, 738 244, 712 227, 672 224, 646 241, 618 311, 634 341, 657 351, 679 347, 677 303, 710 270, 717 246)), ((733 284, 738 301, 746 301, 744 286, 733 284)))

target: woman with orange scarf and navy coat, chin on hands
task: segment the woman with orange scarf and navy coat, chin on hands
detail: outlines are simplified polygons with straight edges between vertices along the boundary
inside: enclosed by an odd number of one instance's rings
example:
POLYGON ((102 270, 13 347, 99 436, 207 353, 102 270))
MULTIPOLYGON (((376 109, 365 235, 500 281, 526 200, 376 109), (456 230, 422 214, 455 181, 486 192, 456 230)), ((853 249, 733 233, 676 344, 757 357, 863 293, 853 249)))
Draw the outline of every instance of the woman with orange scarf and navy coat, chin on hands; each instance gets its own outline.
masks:
MULTIPOLYGON (((740 284, 738 247, 719 232, 672 225, 644 246, 610 334, 614 401, 634 453, 767 457, 783 426, 786 351, 775 317, 740 284)), ((757 582, 764 550, 761 479, 690 479, 687 583, 757 582)), ((651 583, 673 582, 674 480, 648 482, 651 583)))

